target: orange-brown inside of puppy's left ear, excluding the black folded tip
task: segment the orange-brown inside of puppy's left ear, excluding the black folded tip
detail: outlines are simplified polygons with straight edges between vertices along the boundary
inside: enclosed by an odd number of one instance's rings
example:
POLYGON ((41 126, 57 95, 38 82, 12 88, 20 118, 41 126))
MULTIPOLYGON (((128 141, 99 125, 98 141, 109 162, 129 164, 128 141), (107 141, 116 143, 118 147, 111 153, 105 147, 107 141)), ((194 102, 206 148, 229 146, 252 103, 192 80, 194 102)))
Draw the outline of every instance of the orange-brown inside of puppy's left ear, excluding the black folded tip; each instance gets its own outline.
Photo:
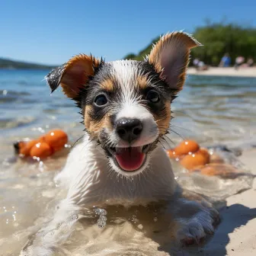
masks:
POLYGON ((80 54, 66 63, 60 85, 62 90, 69 98, 75 98, 81 88, 83 88, 90 75, 94 75, 94 67, 99 65, 99 59, 94 59, 92 56, 80 54))

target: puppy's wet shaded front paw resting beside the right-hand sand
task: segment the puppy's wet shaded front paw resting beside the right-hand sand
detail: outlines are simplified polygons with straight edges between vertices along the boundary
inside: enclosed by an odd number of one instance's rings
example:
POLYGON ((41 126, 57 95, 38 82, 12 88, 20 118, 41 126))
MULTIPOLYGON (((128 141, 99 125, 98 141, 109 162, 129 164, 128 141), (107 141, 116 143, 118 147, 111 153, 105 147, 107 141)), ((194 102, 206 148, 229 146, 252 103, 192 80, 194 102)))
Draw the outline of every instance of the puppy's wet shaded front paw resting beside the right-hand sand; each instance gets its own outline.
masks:
POLYGON ((213 208, 202 209, 188 219, 179 219, 176 238, 181 245, 200 244, 206 235, 213 235, 219 223, 219 213, 213 208))

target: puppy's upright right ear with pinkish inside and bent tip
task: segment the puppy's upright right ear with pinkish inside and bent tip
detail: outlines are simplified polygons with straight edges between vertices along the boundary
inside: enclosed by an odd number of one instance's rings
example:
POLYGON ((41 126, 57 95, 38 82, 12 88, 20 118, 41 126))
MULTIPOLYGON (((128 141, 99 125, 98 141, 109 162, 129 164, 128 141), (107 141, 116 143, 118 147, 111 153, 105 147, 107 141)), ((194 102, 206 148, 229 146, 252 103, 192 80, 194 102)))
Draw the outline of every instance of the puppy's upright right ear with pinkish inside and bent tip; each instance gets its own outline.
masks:
POLYGON ((175 92, 181 91, 184 85, 190 49, 196 46, 201 44, 193 37, 173 32, 160 38, 149 53, 149 63, 175 92))

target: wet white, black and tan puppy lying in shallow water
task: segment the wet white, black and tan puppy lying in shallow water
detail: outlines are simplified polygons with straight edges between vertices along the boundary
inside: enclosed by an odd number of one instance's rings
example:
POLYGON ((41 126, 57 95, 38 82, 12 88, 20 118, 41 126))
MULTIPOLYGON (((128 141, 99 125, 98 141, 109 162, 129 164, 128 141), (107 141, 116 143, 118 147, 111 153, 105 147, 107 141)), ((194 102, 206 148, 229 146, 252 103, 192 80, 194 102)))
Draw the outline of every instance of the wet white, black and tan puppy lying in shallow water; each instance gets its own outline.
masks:
POLYGON ((52 92, 61 85, 81 108, 85 136, 56 176, 68 189, 66 199, 24 248, 26 255, 52 254, 72 232, 79 213, 93 206, 165 200, 178 243, 199 242, 213 233, 218 213, 176 184, 160 143, 171 122, 171 102, 184 85, 190 49, 196 46, 200 43, 193 37, 174 32, 162 37, 144 61, 104 62, 78 55, 46 76, 52 92), (59 226, 65 222, 63 231, 59 226))

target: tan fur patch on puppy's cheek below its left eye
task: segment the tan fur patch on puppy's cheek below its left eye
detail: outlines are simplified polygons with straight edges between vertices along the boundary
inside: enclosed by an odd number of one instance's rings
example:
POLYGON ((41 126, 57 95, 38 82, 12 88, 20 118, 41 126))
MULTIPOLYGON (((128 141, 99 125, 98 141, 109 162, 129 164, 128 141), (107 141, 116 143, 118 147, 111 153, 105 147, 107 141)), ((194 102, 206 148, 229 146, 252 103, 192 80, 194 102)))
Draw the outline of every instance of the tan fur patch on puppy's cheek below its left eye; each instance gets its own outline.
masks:
POLYGON ((100 121, 95 121, 90 116, 91 110, 91 105, 85 106, 85 128, 86 130, 88 130, 91 136, 97 138, 103 128, 107 128, 109 130, 113 129, 112 124, 110 122, 110 114, 106 114, 100 121))

